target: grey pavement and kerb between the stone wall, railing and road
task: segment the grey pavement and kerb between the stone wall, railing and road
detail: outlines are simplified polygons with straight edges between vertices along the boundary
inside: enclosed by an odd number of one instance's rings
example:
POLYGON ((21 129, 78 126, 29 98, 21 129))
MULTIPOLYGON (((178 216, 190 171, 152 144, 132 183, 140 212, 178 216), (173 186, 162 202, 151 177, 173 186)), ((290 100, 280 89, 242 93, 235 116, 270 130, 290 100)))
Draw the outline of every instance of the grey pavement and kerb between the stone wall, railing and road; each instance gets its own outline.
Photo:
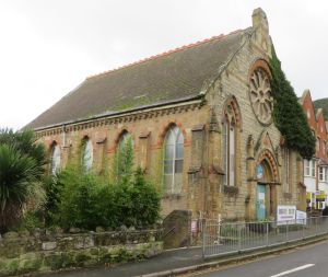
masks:
MULTIPOLYGON (((327 236, 317 238, 316 240, 304 241, 297 244, 283 245, 280 247, 261 250, 251 253, 243 253, 233 255, 231 257, 221 257, 212 261, 202 258, 201 247, 191 247, 191 249, 179 249, 165 251, 164 253, 154 256, 147 261, 141 262, 131 262, 122 264, 116 267, 96 267, 96 268, 86 268, 86 269, 77 269, 72 272, 62 272, 62 273, 50 273, 38 276, 45 277, 164 277, 164 276, 176 276, 178 274, 187 274, 190 272, 198 272, 202 269, 222 267, 229 264, 236 264, 243 261, 251 261, 261 256, 271 255, 272 253, 281 253, 286 249, 294 249, 300 245, 307 245, 317 241, 327 241, 327 236)), ((326 247, 328 242, 326 243, 326 247)), ((328 250, 328 247, 327 247, 328 250)), ((328 251, 325 256, 328 256, 328 251)), ((326 262, 327 263, 327 262, 326 262)), ((328 264, 328 263, 327 263, 328 264)), ((241 274, 241 273, 239 273, 241 274)), ((207 275, 203 275, 207 276, 207 275)), ((212 276, 212 275, 209 275, 212 276)), ((216 276, 216 275, 213 275, 216 276)), ((221 275, 219 275, 221 276, 221 275)), ((245 276, 246 275, 222 275, 222 276, 245 276)), ((257 275, 249 275, 257 276, 257 275)), ((258 275, 267 276, 267 275, 258 275)), ((269 275, 270 276, 270 275, 269 275)), ((316 276, 316 275, 314 275, 316 276)), ((328 276, 328 272, 327 275, 328 276)))

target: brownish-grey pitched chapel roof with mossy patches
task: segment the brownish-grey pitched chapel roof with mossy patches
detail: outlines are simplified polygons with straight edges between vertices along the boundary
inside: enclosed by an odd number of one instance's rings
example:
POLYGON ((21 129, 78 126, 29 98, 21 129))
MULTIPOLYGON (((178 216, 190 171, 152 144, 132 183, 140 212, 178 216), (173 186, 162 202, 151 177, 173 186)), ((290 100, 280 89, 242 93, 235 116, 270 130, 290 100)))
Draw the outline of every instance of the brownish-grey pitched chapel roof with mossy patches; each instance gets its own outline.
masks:
POLYGON ((42 129, 195 99, 237 51, 243 33, 214 36, 86 78, 25 128, 42 129))

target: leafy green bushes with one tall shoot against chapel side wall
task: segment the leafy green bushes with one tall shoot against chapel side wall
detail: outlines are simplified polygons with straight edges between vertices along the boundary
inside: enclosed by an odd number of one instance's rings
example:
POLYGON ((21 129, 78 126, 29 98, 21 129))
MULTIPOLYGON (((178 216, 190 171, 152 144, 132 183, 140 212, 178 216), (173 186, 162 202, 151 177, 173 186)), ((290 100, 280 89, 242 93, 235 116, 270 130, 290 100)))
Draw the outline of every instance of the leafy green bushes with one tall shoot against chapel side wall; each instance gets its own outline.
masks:
POLYGON ((117 178, 85 172, 79 166, 62 170, 47 184, 47 222, 65 229, 97 226, 148 227, 160 212, 160 194, 143 172, 133 171, 132 143, 128 139, 118 150, 114 168, 117 178))

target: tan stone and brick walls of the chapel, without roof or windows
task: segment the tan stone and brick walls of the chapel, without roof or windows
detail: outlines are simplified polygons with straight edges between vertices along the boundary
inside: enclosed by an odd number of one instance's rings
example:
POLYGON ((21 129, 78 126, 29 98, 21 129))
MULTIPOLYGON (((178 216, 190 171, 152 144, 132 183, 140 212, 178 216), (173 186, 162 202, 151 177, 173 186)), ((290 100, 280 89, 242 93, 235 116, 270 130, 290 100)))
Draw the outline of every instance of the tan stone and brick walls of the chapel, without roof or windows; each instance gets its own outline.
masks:
POLYGON ((289 150, 286 154, 272 119, 262 123, 251 106, 250 79, 257 70, 270 77, 271 46, 267 16, 257 9, 253 26, 243 31, 239 47, 218 68, 216 76, 203 83, 200 99, 49 126, 37 129, 39 142, 50 155, 56 141, 65 168, 70 161, 79 161, 81 141, 87 137, 93 143, 93 170, 102 173, 110 169, 120 135, 128 131, 137 165, 145 170, 162 193, 163 217, 173 210, 190 210, 192 218, 255 220, 259 184, 265 186, 266 218, 276 217, 278 205, 296 205, 304 210, 303 160, 297 152, 289 150), (223 124, 230 115, 235 162, 231 165, 234 181, 226 185, 224 178, 230 172, 224 165, 223 124), (163 191, 164 139, 172 125, 184 135, 179 194, 163 191), (258 174, 259 169, 262 174, 258 174))

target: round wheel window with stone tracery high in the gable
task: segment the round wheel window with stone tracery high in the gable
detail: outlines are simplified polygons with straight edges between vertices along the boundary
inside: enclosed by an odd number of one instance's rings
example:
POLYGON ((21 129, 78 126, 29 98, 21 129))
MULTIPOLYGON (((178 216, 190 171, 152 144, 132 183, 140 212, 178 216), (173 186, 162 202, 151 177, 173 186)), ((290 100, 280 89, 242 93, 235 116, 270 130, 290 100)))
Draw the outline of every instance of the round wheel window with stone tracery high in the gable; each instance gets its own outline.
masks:
POLYGON ((250 76, 250 103, 255 115, 262 124, 271 122, 273 99, 271 96, 270 79, 262 68, 257 68, 250 76))

